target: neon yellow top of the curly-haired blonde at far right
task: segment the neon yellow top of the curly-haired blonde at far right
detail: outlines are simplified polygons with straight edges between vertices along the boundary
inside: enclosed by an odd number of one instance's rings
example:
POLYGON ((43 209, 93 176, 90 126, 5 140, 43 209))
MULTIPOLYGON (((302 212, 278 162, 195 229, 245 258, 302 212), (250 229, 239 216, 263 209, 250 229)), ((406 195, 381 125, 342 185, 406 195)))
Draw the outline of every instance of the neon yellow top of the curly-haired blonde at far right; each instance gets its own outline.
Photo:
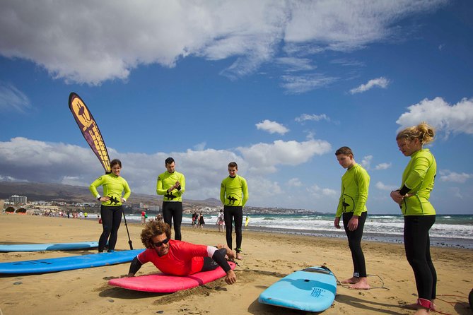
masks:
POLYGON ((411 160, 402 173, 401 187, 409 188, 409 197, 401 204, 403 215, 435 215, 428 198, 431 196, 437 174, 437 162, 428 149, 421 149, 411 155, 411 160))

